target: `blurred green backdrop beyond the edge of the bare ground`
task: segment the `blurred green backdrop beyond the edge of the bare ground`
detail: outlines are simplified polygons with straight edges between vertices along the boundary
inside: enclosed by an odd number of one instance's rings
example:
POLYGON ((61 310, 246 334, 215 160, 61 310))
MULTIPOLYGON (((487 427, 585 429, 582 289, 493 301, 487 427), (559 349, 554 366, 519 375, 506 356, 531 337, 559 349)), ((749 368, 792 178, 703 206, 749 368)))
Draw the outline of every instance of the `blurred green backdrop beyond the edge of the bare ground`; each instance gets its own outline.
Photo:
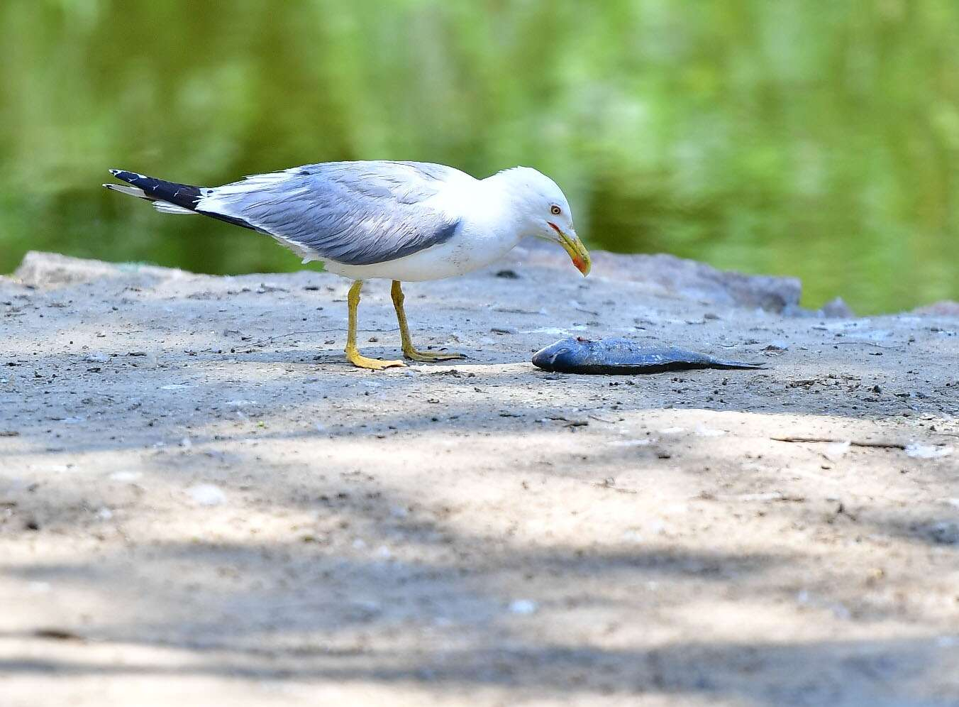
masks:
POLYGON ((591 247, 798 275, 808 306, 959 298, 953 1, 9 0, 0 24, 0 271, 296 270, 106 169, 387 158, 536 167, 591 247))

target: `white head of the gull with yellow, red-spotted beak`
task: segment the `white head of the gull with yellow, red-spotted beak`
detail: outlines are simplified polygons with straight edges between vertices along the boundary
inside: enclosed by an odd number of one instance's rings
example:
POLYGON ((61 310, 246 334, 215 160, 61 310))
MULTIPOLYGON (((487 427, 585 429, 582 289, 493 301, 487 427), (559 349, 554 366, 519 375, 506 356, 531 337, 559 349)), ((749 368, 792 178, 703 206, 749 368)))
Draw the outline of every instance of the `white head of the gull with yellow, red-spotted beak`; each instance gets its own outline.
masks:
POLYGON ((569 253, 576 270, 588 275, 590 253, 576 236, 570 202, 556 182, 529 167, 514 167, 498 177, 508 184, 523 235, 559 244, 569 253))

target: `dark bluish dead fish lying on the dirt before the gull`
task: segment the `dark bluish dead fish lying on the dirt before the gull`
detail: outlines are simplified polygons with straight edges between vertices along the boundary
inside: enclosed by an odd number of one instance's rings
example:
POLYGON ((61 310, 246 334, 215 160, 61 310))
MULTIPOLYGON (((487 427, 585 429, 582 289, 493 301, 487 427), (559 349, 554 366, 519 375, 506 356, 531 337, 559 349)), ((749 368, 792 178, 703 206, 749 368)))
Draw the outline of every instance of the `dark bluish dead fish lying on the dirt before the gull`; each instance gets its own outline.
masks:
POLYGON ((761 368, 761 364, 725 361, 673 346, 643 346, 627 339, 573 338, 551 343, 533 354, 533 365, 558 373, 660 373, 690 368, 761 368))

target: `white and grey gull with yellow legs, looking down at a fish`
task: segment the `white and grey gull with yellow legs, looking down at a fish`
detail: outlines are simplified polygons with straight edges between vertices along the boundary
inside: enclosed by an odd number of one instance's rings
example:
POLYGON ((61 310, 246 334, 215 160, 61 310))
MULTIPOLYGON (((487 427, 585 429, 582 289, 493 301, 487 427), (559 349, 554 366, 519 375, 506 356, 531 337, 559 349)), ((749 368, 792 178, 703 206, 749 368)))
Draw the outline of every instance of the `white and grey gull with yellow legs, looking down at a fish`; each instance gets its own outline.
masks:
POLYGON ((529 167, 477 179, 427 162, 323 162, 199 187, 125 170, 107 189, 152 201, 164 214, 201 214, 265 233, 307 263, 353 280, 347 297, 346 359, 382 370, 403 361, 372 359, 357 349, 363 281, 392 280, 403 355, 411 361, 465 358, 417 351, 409 338, 402 282, 453 277, 494 263, 526 236, 559 244, 577 270, 590 254, 576 236, 569 201, 529 167))

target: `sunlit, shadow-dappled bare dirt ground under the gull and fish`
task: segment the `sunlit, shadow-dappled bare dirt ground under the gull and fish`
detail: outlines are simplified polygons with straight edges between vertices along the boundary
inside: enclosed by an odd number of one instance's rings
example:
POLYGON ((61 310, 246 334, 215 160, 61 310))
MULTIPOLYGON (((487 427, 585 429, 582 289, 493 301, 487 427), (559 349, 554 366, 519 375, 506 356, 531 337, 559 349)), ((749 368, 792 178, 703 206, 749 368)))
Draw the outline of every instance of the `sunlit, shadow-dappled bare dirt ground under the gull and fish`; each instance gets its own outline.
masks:
MULTIPOLYGON (((959 704, 959 317, 634 262, 411 284, 416 341, 469 359, 373 373, 333 275, 28 256, 0 704, 959 704), (566 332, 767 367, 528 363, 566 332)), ((360 317, 395 358, 384 283, 360 317)))

